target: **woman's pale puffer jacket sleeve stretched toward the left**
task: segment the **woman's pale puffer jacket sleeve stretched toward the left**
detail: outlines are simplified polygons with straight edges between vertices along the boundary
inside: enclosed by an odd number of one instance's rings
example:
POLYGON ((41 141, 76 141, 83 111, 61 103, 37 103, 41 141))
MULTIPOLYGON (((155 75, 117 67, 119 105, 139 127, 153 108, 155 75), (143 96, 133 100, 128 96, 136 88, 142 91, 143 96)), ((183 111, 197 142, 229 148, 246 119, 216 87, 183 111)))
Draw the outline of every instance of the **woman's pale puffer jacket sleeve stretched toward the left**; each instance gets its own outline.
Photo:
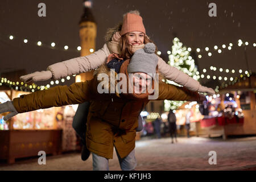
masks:
POLYGON ((51 71, 52 78, 57 80, 68 75, 76 75, 96 69, 105 63, 109 54, 108 46, 104 44, 103 48, 88 56, 76 57, 49 65, 47 70, 51 71))

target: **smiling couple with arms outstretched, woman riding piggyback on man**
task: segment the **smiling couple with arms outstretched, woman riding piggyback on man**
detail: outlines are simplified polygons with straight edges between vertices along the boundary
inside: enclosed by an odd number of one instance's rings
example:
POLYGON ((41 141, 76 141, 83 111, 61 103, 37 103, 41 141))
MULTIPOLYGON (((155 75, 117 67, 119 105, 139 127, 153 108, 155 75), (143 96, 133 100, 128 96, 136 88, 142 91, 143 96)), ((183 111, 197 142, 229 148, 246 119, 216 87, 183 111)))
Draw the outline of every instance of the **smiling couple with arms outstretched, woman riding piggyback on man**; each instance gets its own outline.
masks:
MULTIPOLYGON (((169 85, 159 80, 158 100, 202 101, 205 97, 197 92, 213 94, 214 91, 200 85, 198 81, 178 69, 170 67, 155 53, 152 53, 152 50, 156 52, 155 45, 147 44, 152 41, 146 36, 142 18, 137 11, 125 14, 122 24, 113 28, 108 35, 110 36, 107 36, 107 43, 104 47, 89 56, 56 63, 49 66, 48 71, 22 77, 24 81, 30 78, 34 81, 48 78, 58 79, 100 67, 92 80, 71 86, 56 86, 49 90, 20 96, 13 102, 1 104, 0 113, 11 111, 5 117, 8 119, 26 111, 90 101, 86 118, 86 147, 93 155, 93 169, 108 170, 108 159, 113 158, 115 147, 121 168, 133 170, 137 164, 134 148, 138 117, 149 101, 150 94, 148 92, 100 94, 97 92, 99 73, 109 73, 109 69, 114 68, 117 73, 125 75, 137 73, 146 78, 148 73, 154 75, 159 72, 169 80, 187 87, 169 85), (111 60, 108 60, 108 57, 111 60), (148 61, 151 61, 150 64, 148 61)), ((129 77, 127 80, 129 81, 129 77)))

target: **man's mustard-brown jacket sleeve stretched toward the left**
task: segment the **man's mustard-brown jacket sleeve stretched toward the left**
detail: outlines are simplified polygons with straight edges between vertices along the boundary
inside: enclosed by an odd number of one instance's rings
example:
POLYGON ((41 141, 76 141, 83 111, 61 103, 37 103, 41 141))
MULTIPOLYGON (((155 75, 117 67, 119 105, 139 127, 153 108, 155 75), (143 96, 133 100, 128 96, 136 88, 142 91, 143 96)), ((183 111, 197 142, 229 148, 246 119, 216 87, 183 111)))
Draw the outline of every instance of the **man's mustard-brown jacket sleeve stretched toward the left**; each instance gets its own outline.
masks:
POLYGON ((80 104, 93 99, 92 88, 92 80, 74 83, 71 86, 55 86, 48 90, 14 98, 13 104, 18 113, 54 106, 80 104))

